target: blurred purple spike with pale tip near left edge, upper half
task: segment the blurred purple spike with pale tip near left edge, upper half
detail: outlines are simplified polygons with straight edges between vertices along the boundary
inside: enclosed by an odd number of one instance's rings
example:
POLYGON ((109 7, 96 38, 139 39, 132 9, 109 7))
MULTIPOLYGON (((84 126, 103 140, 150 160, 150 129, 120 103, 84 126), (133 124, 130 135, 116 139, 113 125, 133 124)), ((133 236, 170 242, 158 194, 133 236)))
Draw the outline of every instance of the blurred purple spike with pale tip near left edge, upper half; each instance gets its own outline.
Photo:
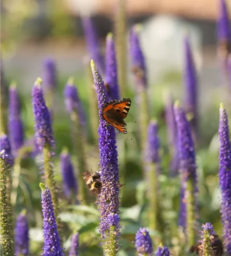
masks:
POLYGON ((24 126, 20 116, 20 100, 15 84, 9 89, 9 137, 12 151, 17 150, 24 144, 24 126))

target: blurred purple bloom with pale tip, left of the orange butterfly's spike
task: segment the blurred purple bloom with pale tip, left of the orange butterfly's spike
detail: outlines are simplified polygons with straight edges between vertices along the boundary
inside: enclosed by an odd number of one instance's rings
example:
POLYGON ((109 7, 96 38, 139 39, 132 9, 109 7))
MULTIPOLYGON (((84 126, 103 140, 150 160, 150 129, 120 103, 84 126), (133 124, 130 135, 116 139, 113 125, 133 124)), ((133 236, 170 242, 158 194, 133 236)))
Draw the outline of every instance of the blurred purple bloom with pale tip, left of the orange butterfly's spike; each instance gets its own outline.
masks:
POLYGON ((82 126, 85 125, 85 115, 83 112, 82 104, 79 99, 79 95, 77 92, 77 88, 74 84, 74 79, 70 77, 67 81, 67 84, 64 89, 64 96, 65 96, 65 105, 66 110, 72 114, 72 112, 77 112, 80 118, 80 122, 82 126))

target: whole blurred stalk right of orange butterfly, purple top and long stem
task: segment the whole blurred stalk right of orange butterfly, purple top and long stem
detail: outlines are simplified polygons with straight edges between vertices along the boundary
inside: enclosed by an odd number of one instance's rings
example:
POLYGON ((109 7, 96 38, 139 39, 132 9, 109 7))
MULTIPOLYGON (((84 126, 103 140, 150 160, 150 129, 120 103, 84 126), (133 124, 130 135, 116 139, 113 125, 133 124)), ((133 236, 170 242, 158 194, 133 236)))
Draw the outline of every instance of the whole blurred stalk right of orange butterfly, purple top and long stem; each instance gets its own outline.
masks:
MULTIPOLYGON (((149 123, 149 100, 147 95, 148 81, 145 57, 139 39, 140 25, 134 25, 130 32, 130 55, 132 61, 132 71, 136 80, 137 108, 140 112, 138 129, 140 132, 141 150, 144 152, 147 128, 149 123)), ((142 156, 143 165, 145 156, 142 156)))

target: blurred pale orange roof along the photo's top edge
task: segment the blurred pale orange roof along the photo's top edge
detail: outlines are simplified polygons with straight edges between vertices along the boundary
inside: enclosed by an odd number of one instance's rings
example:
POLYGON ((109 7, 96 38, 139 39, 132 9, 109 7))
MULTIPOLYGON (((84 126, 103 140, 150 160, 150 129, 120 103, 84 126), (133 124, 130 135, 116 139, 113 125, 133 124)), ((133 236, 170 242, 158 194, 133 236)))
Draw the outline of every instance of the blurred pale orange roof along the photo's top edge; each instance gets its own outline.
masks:
MULTIPOLYGON (((70 11, 76 15, 82 13, 112 15, 119 0, 67 0, 70 11)), ((231 1, 226 1, 231 12, 231 1)), ((127 0, 128 17, 144 16, 155 13, 174 14, 194 19, 215 20, 219 0, 127 0)))

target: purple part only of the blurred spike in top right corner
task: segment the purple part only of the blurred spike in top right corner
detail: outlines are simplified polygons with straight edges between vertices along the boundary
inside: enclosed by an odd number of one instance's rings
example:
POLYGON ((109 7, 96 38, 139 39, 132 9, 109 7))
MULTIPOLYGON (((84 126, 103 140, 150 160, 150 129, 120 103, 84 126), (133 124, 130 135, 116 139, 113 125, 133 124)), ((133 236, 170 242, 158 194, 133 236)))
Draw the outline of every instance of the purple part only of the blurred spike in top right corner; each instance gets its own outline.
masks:
POLYGON ((219 41, 230 42, 231 30, 227 5, 225 0, 219 0, 219 16, 217 22, 217 36, 219 41))

